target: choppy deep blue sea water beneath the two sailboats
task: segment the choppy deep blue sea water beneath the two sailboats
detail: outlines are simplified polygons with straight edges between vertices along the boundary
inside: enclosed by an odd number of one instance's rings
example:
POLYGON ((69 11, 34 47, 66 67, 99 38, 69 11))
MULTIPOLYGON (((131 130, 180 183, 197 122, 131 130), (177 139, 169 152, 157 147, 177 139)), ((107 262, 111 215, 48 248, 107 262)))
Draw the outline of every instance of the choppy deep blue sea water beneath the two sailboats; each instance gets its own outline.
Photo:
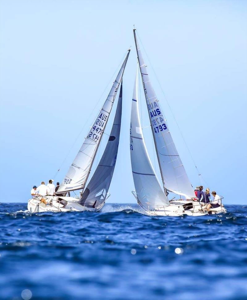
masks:
POLYGON ((134 204, 35 213, 1 203, 0 299, 244 300, 247 206, 152 217, 134 204))

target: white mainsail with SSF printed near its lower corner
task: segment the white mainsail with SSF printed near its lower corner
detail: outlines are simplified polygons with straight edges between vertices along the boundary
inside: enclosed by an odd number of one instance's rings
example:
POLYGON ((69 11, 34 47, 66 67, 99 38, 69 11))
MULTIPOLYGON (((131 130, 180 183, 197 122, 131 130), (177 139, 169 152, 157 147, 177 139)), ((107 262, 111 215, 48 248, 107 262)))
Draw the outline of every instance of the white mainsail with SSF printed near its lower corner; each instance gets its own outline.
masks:
POLYGON ((94 125, 91 127, 81 149, 70 166, 69 171, 62 181, 57 193, 79 190, 85 187, 86 180, 89 176, 99 143, 103 136, 103 132, 119 88, 119 84, 124 74, 124 68, 128 60, 129 52, 130 49, 128 50, 124 63, 119 70, 116 80, 112 85, 111 91, 102 109, 100 110, 94 125))

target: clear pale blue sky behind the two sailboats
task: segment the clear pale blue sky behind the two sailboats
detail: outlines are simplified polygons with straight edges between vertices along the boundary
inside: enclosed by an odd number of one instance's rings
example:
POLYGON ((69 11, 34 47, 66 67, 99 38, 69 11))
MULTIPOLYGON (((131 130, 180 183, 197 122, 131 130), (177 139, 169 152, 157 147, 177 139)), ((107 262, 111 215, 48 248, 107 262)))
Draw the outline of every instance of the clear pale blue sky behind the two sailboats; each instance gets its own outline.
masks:
MULTIPOLYGON (((135 24, 191 183, 201 181, 173 114, 204 187, 226 204, 246 204, 246 3, 1 0, 1 201, 27 202, 34 184, 64 178, 132 46, 109 202, 136 202, 129 153, 135 24)), ((158 172, 150 127, 144 137, 158 172)))

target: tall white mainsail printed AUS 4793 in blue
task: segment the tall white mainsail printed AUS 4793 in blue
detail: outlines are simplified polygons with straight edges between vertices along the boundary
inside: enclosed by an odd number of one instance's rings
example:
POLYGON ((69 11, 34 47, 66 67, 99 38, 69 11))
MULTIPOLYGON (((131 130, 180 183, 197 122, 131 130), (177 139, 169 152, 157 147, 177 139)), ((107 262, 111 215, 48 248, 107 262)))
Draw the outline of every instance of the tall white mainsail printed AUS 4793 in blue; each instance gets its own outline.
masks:
POLYGON ((149 80, 147 68, 144 64, 140 47, 136 39, 135 29, 134 38, 164 189, 168 189, 178 195, 193 198, 195 197, 195 193, 174 145, 165 116, 149 80))

